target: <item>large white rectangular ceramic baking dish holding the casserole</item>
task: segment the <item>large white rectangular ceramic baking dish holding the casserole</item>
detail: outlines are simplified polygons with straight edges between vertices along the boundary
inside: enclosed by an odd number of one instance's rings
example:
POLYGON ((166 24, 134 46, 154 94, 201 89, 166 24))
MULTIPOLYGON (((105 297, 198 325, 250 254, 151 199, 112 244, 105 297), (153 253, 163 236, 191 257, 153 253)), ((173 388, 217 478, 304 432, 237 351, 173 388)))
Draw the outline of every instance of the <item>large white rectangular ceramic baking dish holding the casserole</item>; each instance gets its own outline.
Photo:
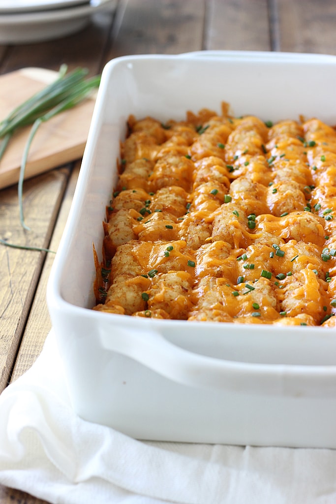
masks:
POLYGON ((102 75, 47 301, 74 409, 137 438, 336 448, 336 333, 93 311, 92 243, 129 114, 186 110, 336 123, 336 57, 267 52, 126 56, 102 75))

